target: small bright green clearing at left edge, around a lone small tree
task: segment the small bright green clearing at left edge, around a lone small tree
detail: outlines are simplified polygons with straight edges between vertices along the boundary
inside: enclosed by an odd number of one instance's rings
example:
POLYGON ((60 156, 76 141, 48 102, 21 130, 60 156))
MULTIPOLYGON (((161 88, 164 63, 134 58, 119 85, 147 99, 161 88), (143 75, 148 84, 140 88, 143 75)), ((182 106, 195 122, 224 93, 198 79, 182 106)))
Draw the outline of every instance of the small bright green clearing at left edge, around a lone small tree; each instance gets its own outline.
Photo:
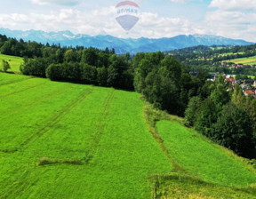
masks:
POLYGON ((20 64, 23 63, 23 58, 0 54, 0 69, 3 69, 2 60, 6 60, 10 64, 11 69, 8 71, 20 73, 20 64))

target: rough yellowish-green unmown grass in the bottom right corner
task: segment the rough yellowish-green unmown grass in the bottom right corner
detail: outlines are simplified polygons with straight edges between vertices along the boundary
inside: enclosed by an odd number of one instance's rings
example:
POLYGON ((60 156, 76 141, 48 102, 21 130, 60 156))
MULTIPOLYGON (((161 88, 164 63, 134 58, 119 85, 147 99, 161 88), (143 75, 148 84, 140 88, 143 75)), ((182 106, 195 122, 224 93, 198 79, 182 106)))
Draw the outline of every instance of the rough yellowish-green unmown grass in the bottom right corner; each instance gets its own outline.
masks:
POLYGON ((255 192, 250 188, 227 187, 205 183, 200 179, 190 176, 172 173, 169 176, 157 178, 159 187, 156 190, 156 198, 227 198, 227 199, 255 199, 255 192))

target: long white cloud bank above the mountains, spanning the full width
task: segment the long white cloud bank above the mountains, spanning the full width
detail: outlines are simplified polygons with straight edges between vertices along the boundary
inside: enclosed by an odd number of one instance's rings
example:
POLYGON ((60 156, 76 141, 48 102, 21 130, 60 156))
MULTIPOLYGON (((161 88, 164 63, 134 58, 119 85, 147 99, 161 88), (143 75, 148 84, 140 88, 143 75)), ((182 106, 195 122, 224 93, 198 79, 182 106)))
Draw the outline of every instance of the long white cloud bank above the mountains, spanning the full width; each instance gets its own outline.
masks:
MULTIPOLYGON (((212 0, 214 1, 218 0, 212 0)), ((244 12, 238 9, 225 10, 217 7, 214 11, 206 12, 204 20, 192 21, 185 16, 163 17, 154 12, 141 12, 139 22, 127 35, 115 20, 115 6, 86 10, 86 12, 69 7, 69 9, 41 12, 41 14, 37 12, 2 13, 0 14, 0 27, 23 30, 39 29, 47 32, 68 29, 75 34, 90 36, 108 34, 134 38, 141 36, 159 38, 197 33, 256 41, 256 13, 254 12, 244 12)))

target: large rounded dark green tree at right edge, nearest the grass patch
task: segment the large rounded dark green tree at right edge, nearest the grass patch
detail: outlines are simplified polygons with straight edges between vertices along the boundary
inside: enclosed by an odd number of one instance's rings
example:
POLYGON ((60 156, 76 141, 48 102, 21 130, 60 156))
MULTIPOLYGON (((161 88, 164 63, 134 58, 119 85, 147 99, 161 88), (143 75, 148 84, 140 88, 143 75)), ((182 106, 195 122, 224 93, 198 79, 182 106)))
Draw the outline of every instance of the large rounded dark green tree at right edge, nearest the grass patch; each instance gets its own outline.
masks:
POLYGON ((242 107, 228 103, 212 127, 212 139, 237 155, 252 157, 255 143, 250 116, 242 107))

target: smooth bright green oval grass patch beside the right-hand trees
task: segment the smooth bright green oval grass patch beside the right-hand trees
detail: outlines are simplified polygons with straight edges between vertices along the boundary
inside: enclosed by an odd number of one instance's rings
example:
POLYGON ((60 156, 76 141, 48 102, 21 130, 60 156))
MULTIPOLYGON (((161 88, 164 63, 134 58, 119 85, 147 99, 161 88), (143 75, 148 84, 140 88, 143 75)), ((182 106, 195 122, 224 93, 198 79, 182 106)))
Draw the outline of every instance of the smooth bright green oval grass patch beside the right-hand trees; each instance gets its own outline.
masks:
POLYGON ((174 161, 200 179, 226 186, 256 183, 251 167, 205 141, 195 131, 167 121, 156 123, 156 128, 174 161))

